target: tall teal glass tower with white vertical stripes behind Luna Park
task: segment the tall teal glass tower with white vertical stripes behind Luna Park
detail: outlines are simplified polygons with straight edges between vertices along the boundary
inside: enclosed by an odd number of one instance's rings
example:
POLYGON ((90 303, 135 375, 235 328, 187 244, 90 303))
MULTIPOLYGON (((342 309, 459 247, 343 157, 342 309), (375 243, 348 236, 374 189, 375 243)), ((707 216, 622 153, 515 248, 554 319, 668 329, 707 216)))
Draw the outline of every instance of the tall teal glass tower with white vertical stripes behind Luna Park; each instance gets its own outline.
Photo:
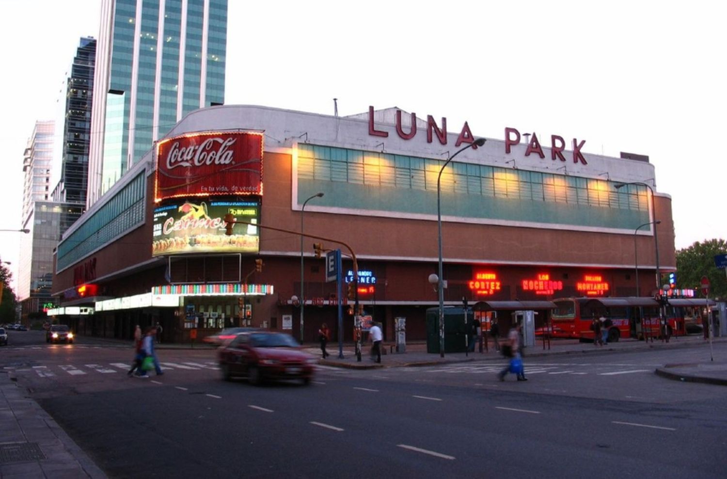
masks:
POLYGON ((192 110, 225 97, 227 0, 104 0, 87 205, 192 110))

